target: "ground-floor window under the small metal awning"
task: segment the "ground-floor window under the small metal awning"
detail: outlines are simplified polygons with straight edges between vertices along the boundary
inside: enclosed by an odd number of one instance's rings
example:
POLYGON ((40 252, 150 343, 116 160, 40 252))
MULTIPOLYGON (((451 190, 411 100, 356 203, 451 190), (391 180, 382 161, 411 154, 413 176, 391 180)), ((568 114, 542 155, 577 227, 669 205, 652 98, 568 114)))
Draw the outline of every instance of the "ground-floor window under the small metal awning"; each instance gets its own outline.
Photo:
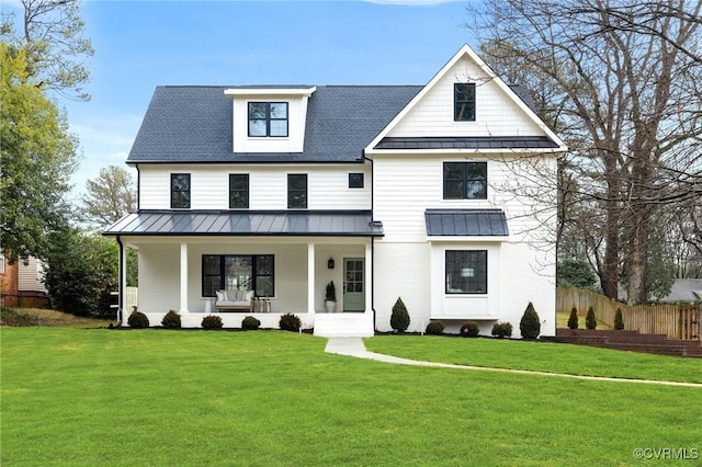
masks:
POLYGON ((486 250, 446 250, 446 294, 487 294, 486 250))

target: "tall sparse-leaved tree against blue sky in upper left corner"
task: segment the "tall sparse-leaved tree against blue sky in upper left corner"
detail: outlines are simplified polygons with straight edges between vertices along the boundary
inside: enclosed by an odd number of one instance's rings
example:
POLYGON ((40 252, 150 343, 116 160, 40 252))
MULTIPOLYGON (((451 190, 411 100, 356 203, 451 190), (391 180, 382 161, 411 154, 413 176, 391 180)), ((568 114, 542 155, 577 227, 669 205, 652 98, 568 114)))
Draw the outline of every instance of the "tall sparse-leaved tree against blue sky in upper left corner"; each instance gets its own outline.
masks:
POLYGON ((86 23, 78 0, 20 0, 23 15, 15 31, 13 15, 4 9, 0 36, 15 48, 27 50, 27 73, 43 89, 88 101, 82 86, 90 72, 82 62, 94 54, 82 37, 86 23))

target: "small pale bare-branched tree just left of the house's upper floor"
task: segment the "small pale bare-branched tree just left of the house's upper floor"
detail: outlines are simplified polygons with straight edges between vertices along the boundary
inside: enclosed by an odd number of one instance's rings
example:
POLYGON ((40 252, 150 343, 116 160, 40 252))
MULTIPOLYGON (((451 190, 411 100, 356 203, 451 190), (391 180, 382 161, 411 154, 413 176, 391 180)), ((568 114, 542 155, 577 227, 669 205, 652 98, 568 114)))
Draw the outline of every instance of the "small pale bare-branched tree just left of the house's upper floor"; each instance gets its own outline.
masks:
POLYGON ((98 179, 89 180, 86 190, 82 198, 86 217, 100 228, 116 223, 136 208, 132 175, 121 167, 100 169, 98 179))

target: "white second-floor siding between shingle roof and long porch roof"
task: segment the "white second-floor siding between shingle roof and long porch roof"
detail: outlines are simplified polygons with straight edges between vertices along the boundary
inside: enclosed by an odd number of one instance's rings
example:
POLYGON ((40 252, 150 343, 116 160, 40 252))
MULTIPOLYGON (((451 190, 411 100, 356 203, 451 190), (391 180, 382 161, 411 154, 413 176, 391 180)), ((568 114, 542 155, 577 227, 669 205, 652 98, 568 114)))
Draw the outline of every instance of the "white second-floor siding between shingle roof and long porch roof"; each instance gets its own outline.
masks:
POLYGON ((191 209, 228 209, 229 174, 249 174, 249 209, 287 209, 287 174, 307 174, 308 209, 370 209, 367 164, 337 166, 139 166, 139 208, 170 209, 171 173, 191 174, 191 209), (363 173, 362 189, 349 187, 349 173, 363 173))

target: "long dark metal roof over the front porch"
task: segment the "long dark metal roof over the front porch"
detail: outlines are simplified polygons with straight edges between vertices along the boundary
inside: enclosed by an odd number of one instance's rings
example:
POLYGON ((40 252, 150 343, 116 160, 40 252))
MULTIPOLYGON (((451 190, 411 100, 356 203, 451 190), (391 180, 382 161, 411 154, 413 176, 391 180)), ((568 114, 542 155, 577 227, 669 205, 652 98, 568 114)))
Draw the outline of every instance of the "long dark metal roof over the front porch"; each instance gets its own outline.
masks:
POLYGON ((329 236, 382 237, 370 212, 163 212, 132 213, 106 236, 329 236))

